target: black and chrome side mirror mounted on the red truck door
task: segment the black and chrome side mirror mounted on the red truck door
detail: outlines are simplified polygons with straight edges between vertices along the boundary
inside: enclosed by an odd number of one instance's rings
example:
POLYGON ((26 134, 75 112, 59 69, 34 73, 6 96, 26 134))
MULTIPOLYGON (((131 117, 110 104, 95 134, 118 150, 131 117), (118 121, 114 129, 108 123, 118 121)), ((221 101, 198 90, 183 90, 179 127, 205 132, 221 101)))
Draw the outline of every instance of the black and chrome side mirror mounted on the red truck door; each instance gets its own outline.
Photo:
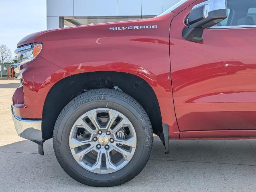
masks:
POLYGON ((182 31, 186 40, 201 42, 203 30, 214 26, 228 17, 227 0, 207 0, 193 6, 186 18, 188 25, 182 31))

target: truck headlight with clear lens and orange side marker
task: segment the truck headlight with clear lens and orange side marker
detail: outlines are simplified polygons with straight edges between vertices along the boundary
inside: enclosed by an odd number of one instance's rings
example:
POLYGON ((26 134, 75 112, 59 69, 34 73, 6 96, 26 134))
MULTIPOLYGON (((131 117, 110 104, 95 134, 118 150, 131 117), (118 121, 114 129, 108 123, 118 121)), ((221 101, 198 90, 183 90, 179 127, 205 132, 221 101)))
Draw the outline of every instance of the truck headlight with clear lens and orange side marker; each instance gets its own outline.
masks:
POLYGON ((34 43, 22 46, 15 50, 18 56, 19 65, 23 65, 27 62, 34 60, 42 50, 42 43, 34 43))

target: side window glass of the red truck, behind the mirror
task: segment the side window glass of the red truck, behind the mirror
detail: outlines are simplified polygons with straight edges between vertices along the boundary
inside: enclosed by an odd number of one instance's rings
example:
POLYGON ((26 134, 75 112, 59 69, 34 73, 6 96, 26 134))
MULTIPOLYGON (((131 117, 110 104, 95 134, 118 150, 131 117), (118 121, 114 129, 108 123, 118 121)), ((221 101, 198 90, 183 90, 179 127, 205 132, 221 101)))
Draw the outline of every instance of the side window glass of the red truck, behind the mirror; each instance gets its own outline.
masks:
POLYGON ((227 0, 228 17, 217 26, 256 25, 256 0, 227 0))

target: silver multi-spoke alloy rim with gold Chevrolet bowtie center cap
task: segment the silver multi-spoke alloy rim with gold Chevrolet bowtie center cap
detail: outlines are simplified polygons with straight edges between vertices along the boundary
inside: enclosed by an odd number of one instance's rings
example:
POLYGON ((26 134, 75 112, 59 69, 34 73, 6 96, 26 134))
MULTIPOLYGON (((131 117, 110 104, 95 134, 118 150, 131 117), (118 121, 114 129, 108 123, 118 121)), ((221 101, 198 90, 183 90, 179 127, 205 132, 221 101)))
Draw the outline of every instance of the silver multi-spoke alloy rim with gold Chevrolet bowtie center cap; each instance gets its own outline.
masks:
POLYGON ((93 173, 126 166, 136 150, 136 132, 122 113, 108 108, 85 112, 73 124, 69 147, 75 161, 93 173))

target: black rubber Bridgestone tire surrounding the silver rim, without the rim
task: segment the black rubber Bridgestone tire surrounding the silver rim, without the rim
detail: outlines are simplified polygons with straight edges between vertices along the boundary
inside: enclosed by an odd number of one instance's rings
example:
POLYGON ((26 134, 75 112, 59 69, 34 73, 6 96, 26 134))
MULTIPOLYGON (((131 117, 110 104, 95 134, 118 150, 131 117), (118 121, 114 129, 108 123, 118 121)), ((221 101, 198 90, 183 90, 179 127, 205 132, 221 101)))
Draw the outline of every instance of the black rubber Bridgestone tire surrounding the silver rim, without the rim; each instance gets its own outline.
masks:
POLYGON ((110 182, 123 183, 127 178, 134 178, 144 167, 149 151, 152 150, 151 125, 148 124, 150 122, 145 114, 141 108, 138 108, 138 104, 131 102, 128 96, 115 92, 96 90, 77 96, 63 109, 55 126, 56 134, 53 140, 56 143, 54 149, 57 152, 57 159, 61 166, 65 167, 63 169, 81 183, 95 186, 100 181, 107 185, 110 182), (99 175, 85 170, 77 164, 69 149, 69 134, 77 117, 95 108, 110 108, 121 112, 132 122, 136 131, 137 146, 133 158, 124 168, 111 174, 99 175))

